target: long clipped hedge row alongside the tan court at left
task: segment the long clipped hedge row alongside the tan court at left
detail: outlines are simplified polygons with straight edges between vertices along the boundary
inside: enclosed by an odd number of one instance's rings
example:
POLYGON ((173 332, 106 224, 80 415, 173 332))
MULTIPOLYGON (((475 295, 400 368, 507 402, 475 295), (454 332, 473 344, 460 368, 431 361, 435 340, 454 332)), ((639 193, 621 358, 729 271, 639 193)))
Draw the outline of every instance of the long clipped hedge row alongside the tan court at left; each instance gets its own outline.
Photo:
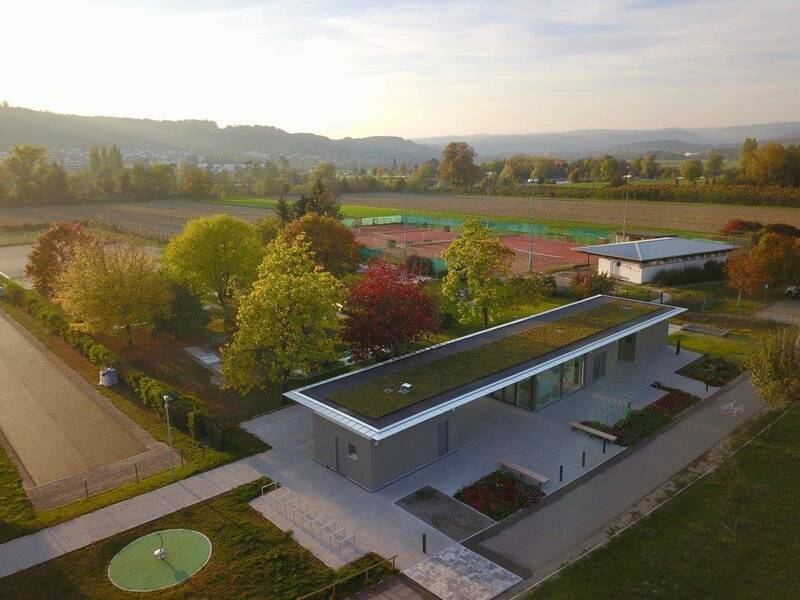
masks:
POLYGON ((180 394, 174 388, 154 379, 142 371, 134 369, 119 354, 96 342, 91 336, 72 328, 61 310, 48 302, 37 292, 0 277, 4 288, 2 300, 22 308, 31 317, 42 323, 53 335, 59 336, 80 352, 90 363, 98 367, 115 367, 122 382, 133 392, 139 402, 147 409, 163 416, 164 395, 169 394, 174 401, 170 404, 170 421, 181 431, 195 440, 213 437, 221 445, 219 436, 211 436, 215 428, 213 422, 203 412, 201 403, 194 396, 180 394))

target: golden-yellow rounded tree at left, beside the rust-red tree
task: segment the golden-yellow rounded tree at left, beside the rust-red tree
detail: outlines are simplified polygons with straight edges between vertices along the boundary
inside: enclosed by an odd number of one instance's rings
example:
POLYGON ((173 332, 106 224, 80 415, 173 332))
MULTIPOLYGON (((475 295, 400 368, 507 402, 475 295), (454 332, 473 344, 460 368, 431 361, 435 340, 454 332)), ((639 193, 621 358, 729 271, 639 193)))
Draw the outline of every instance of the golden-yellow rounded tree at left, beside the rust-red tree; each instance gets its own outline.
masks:
POLYGON ((155 259, 136 244, 79 246, 55 288, 56 302, 79 328, 124 333, 129 346, 132 327, 154 327, 172 302, 155 259))

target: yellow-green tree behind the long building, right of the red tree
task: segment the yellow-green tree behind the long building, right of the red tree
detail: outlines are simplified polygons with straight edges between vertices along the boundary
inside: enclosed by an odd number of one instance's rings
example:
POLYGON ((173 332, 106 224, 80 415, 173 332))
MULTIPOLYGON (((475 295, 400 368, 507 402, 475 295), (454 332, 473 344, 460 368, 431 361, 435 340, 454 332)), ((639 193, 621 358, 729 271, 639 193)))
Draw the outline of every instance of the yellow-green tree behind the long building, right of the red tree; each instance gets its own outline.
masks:
POLYGON ((481 315, 489 326, 490 311, 502 295, 503 278, 511 275, 514 252, 476 219, 464 223, 461 237, 444 252, 447 275, 442 293, 458 306, 461 321, 481 315))

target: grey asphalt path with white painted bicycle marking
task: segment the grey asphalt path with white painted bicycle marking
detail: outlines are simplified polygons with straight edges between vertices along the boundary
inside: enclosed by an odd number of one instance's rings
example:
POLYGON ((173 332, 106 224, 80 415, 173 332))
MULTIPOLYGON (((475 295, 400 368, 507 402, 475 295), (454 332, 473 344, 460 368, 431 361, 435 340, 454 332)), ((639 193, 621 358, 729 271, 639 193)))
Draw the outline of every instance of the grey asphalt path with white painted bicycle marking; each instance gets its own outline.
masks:
POLYGON ((533 512, 472 538, 472 549, 534 580, 552 572, 628 507, 669 481, 763 408, 748 378, 690 409, 655 439, 533 512))

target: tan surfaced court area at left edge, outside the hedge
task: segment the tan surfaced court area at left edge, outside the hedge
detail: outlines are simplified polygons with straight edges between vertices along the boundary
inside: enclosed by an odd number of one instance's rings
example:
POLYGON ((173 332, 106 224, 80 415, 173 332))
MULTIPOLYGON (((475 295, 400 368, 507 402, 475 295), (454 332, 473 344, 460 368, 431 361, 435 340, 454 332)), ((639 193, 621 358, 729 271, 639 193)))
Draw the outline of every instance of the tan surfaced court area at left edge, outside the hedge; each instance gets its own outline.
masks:
POLYGON ((23 467, 27 488, 152 452, 161 455, 158 470, 169 466, 164 444, 2 310, 0 430, 23 467))

